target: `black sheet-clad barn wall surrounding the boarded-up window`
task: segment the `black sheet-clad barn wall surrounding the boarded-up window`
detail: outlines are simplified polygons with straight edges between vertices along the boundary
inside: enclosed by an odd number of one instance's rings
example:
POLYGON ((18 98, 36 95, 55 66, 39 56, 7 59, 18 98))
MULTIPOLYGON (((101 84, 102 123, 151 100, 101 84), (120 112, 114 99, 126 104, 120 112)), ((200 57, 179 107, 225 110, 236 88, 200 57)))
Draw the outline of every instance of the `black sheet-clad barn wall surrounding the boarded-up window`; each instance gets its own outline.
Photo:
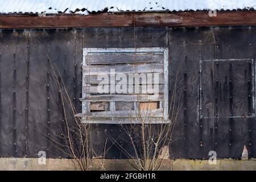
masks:
MULTIPOLYGON (((62 127, 59 96, 49 73, 48 59, 59 69, 77 111, 81 111, 82 48, 168 47, 170 95, 176 82, 182 104, 170 146, 171 158, 204 159, 209 158, 208 152, 212 150, 219 158, 240 158, 244 145, 249 156, 255 158, 254 117, 230 121, 229 110, 225 108, 220 121, 214 115, 208 119, 200 117, 203 96, 199 72, 200 60, 255 59, 255 30, 256 27, 1 30, 0 156, 36 158, 38 151, 46 151, 48 158, 67 158, 47 138, 55 138, 52 131, 57 133, 62 127)), ((207 65, 204 68, 203 73, 217 70, 207 65)), ((220 72, 225 77, 226 69, 220 67, 220 72)), ((206 79, 204 85, 214 83, 215 80, 206 79)), ((241 96, 248 95, 248 89, 240 91, 241 96)), ((221 94, 218 90, 212 94, 216 93, 221 94)), ((226 103, 220 105, 230 104, 226 103)), ((121 126, 94 125, 92 138, 96 150, 104 147, 106 133, 127 151, 131 150, 123 140, 126 136, 121 126)), ((110 140, 106 147, 106 158, 127 158, 110 140)))

